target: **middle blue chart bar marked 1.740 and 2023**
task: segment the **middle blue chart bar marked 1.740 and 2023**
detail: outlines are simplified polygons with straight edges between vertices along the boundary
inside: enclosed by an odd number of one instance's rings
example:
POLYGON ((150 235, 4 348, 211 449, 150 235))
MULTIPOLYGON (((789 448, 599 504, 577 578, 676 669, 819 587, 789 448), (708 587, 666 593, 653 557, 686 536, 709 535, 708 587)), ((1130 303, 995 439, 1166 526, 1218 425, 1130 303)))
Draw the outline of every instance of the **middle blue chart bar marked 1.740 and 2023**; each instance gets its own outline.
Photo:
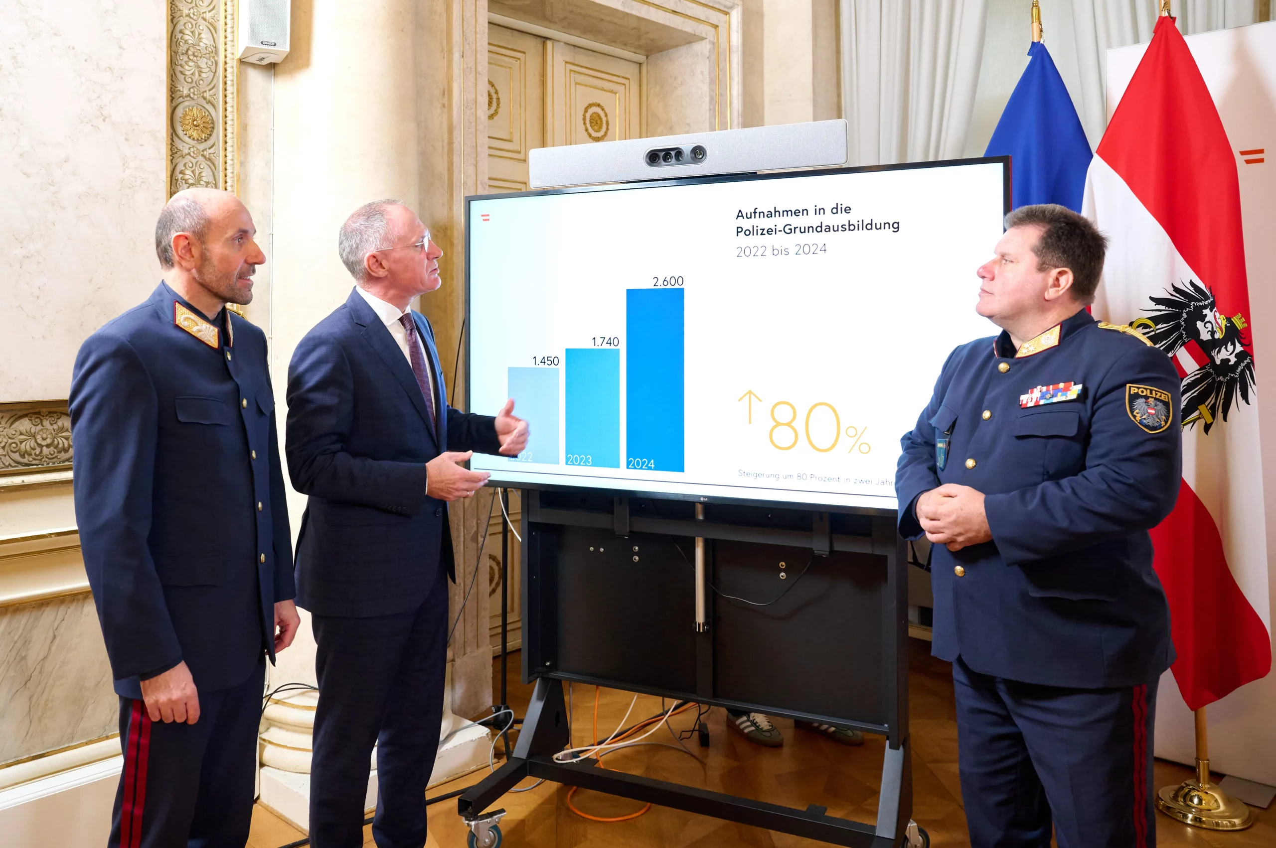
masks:
POLYGON ((620 468, 620 351, 567 349, 567 464, 620 468))

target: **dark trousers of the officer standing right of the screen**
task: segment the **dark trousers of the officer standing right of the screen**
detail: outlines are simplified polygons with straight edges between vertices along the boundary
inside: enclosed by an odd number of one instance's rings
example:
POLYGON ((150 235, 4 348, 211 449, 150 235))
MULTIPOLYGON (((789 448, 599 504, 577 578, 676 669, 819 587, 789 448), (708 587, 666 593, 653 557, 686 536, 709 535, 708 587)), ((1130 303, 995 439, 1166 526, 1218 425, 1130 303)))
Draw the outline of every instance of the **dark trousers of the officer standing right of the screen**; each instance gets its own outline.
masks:
POLYGON ((957 761, 972 848, 1155 848, 1156 684, 1064 689, 958 657, 957 761))

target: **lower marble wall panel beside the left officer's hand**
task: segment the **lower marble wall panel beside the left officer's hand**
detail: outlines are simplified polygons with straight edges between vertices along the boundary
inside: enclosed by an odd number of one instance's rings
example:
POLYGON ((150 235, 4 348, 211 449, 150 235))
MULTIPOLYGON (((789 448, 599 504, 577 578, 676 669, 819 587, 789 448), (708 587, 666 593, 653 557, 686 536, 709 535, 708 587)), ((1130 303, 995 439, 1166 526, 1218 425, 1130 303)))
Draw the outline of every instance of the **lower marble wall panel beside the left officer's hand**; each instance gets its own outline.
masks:
POLYGON ((88 593, 0 607, 0 764, 117 732, 88 593))

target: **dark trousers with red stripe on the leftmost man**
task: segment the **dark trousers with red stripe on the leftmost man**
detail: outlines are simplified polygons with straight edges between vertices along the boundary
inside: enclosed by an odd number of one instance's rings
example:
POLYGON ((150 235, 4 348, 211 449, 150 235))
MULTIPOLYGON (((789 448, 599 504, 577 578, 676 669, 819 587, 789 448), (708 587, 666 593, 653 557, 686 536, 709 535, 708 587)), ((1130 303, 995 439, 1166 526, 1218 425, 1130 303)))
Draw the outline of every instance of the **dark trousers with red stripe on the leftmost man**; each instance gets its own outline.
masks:
POLYGON ((124 770, 108 848, 244 848, 253 820, 265 658, 242 684, 199 692, 194 724, 120 699, 124 770))

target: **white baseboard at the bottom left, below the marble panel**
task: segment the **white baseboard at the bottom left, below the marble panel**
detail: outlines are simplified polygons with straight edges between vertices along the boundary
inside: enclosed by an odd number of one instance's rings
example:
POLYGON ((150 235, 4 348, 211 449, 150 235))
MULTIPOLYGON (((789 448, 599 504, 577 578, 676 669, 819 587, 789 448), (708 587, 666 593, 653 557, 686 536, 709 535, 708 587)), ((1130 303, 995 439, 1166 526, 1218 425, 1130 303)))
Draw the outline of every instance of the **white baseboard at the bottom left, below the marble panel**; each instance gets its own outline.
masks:
POLYGON ((102 848, 122 756, 69 769, 0 791, 5 848, 102 848))

